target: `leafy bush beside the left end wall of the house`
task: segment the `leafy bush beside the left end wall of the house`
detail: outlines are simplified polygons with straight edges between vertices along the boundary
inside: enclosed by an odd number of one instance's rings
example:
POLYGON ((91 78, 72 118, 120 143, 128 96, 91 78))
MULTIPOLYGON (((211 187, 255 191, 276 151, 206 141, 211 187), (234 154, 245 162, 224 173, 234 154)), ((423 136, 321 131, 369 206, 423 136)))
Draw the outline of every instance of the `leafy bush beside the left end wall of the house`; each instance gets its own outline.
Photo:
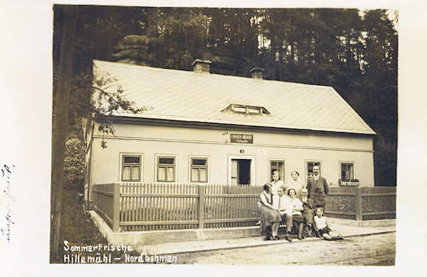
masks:
POLYGON ((85 179, 85 145, 78 139, 70 139, 65 146, 64 188, 83 192, 85 179))

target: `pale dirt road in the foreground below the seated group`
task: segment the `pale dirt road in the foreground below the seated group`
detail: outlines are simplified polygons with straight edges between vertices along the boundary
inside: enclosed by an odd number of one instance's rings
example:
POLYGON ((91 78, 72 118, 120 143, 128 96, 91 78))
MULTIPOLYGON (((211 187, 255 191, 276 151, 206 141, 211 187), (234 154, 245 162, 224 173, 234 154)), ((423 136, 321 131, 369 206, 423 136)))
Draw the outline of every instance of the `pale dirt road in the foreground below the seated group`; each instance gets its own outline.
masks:
POLYGON ((395 257, 396 233, 393 232, 342 241, 315 239, 180 254, 178 259, 182 264, 393 266, 395 257))

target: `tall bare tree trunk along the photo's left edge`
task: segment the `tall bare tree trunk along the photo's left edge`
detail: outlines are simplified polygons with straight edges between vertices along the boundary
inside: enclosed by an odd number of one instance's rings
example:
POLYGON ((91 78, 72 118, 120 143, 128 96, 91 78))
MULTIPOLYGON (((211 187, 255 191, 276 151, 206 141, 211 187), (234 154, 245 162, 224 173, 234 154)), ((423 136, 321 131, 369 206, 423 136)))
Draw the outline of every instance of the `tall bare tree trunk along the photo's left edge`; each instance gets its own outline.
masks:
POLYGON ((51 262, 58 261, 63 165, 70 104, 71 74, 77 6, 64 6, 63 33, 60 41, 58 87, 53 107, 52 173, 51 173, 51 262))

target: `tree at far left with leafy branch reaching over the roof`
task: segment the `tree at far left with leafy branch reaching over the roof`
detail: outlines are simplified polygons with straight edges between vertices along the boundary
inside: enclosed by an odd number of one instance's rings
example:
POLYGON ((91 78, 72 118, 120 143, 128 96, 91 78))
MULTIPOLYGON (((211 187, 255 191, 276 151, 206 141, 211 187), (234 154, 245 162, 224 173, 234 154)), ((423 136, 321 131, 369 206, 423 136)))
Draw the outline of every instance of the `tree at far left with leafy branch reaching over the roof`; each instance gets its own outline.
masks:
MULTIPOLYGON (((101 123, 100 131, 102 134, 107 134, 114 132, 109 121, 113 111, 142 112, 144 110, 144 108, 134 107, 135 105, 132 102, 128 102, 123 97, 120 87, 117 87, 114 93, 107 92, 105 85, 114 82, 111 78, 96 76, 95 83, 93 83, 92 60, 95 53, 98 52, 96 48, 93 48, 93 37, 90 36, 91 32, 87 30, 88 25, 93 23, 93 17, 89 16, 88 8, 85 6, 56 5, 54 12, 51 262, 58 261, 64 161, 68 161, 66 158, 70 158, 70 156, 65 157, 65 141, 70 136, 68 134, 70 131, 80 129, 79 127, 70 128, 70 122, 75 124, 88 113, 93 113, 95 119, 101 123), (102 108, 90 103, 90 95, 93 94, 93 90, 99 92, 99 97, 95 99, 95 103, 104 103, 102 108), (71 113, 69 113, 70 110, 71 113)), ((100 18, 95 16, 95 22, 99 23, 100 18)), ((107 45, 107 48, 114 44, 107 45)), ((81 127, 81 124, 75 125, 81 127)), ((83 134, 80 133, 80 136, 83 134)), ((83 138, 80 137, 80 139, 83 138)), ((102 146, 105 147, 104 141, 102 146)), ((76 161, 75 166, 79 167, 80 165, 76 161)), ((70 173, 69 170, 67 172, 70 173)), ((69 177, 70 175, 66 176, 65 179, 69 177)))

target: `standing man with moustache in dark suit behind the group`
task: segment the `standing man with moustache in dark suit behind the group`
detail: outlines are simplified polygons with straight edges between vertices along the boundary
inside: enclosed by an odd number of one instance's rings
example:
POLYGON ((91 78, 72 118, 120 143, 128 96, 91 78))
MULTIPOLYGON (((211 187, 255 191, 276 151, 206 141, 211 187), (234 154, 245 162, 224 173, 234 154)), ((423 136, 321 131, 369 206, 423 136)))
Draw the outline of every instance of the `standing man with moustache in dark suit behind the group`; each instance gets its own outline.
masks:
POLYGON ((316 207, 325 210, 326 196, 329 192, 327 181, 319 175, 319 166, 313 166, 313 176, 307 179, 308 197, 313 200, 316 207))

